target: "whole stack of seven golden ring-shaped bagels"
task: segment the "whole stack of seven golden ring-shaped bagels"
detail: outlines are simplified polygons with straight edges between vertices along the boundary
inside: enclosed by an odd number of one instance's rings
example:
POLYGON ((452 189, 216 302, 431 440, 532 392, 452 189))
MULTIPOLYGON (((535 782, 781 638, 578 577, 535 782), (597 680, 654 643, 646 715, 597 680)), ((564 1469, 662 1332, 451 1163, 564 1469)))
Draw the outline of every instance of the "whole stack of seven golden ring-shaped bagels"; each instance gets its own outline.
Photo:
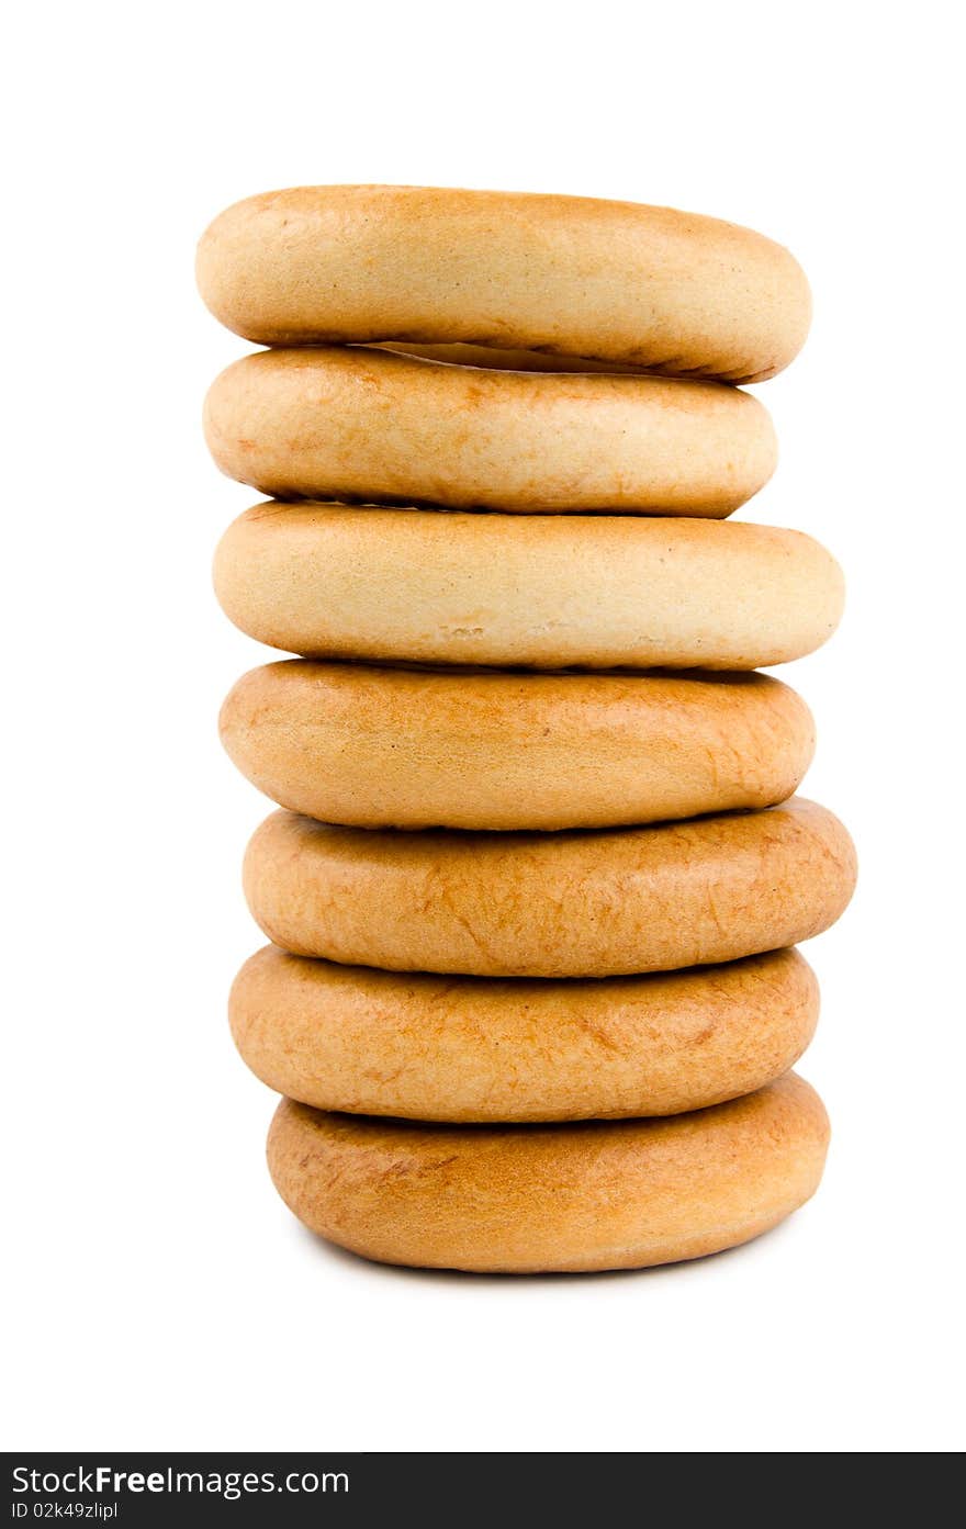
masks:
POLYGON ((199 283, 269 347, 206 401, 217 465, 271 495, 217 593, 298 654, 222 711, 281 809, 231 1023, 284 1095, 283 1199, 477 1271, 773 1226, 828 1138, 795 945, 856 870, 795 795, 806 703, 757 673, 833 631, 839 569, 726 518, 775 466, 735 384, 802 344, 799 266, 663 208, 323 187, 223 213, 199 283))

